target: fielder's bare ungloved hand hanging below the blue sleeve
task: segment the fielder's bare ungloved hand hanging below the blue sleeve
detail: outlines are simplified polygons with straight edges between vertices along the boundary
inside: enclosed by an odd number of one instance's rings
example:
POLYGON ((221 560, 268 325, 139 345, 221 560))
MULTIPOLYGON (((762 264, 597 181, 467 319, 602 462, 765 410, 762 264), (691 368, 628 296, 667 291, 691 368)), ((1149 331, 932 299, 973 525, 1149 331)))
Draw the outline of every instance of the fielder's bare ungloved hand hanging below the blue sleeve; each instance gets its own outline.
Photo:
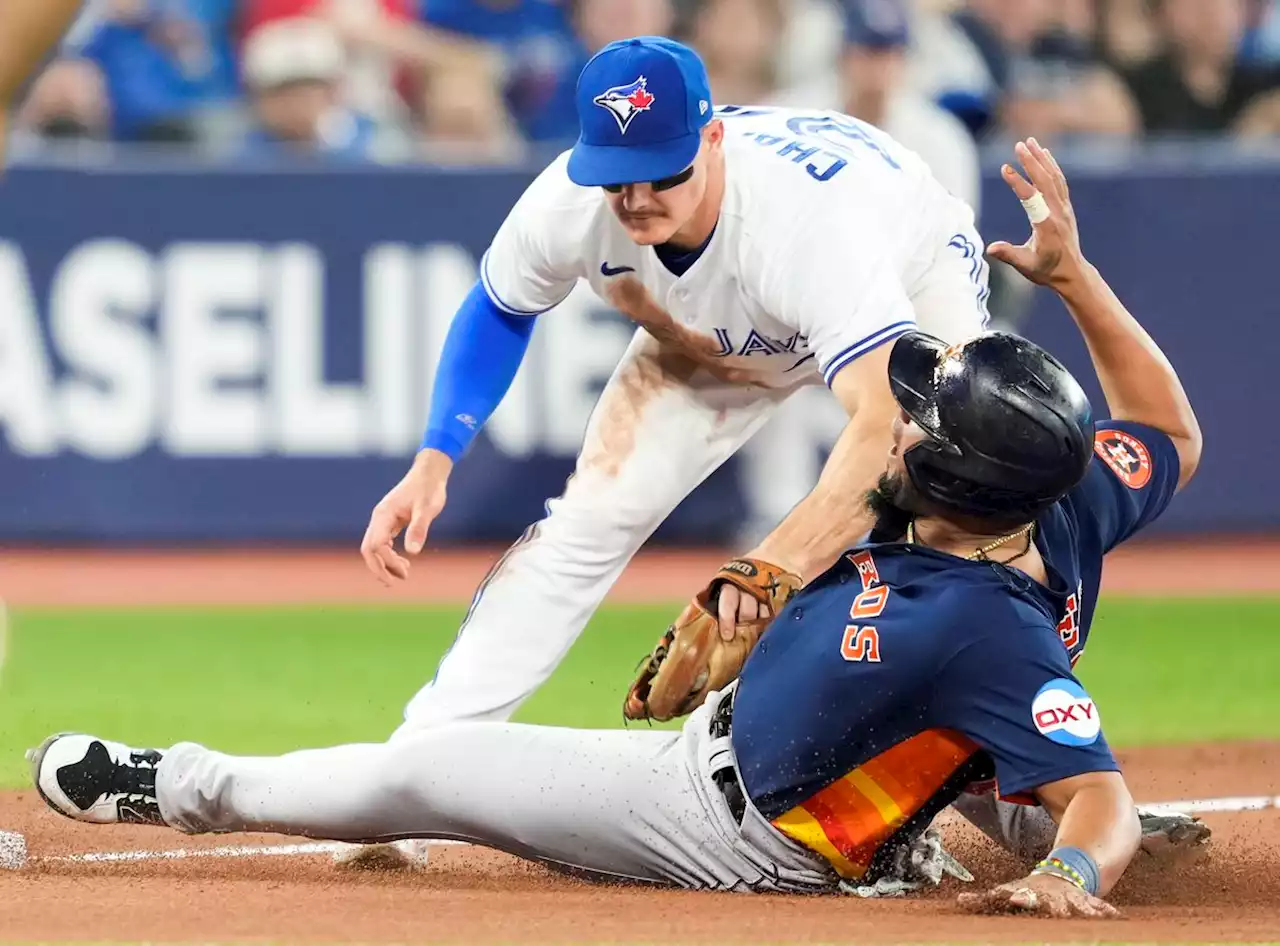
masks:
POLYGON ((453 461, 439 451, 424 449, 413 466, 374 507, 360 543, 365 565, 384 585, 408 577, 408 558, 396 550, 396 536, 404 531, 404 550, 416 556, 426 544, 426 533, 444 508, 445 484, 453 461))

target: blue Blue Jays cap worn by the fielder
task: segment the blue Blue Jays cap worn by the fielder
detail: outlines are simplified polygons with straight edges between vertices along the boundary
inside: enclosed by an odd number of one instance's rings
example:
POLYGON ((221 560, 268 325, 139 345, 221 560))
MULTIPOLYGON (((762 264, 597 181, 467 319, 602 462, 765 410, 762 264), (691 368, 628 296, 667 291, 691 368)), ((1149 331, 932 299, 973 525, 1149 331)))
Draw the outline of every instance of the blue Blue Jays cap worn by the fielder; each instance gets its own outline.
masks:
POLYGON ((602 187, 678 174, 712 118, 707 67, 689 46, 662 36, 611 42, 577 77, 570 180, 602 187))

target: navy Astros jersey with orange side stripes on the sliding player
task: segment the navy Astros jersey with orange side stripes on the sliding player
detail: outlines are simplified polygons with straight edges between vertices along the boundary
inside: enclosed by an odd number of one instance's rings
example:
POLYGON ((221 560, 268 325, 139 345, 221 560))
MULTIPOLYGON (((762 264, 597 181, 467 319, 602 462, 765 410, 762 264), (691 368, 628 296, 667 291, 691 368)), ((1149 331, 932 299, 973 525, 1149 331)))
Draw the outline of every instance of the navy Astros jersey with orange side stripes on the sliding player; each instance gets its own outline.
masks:
POLYGON ((1102 556, 1178 485, 1170 439, 1096 426, 1084 480, 1037 521, 1048 586, 992 562, 867 543, 792 599, 742 668, 732 740, 773 824, 863 877, 979 776, 1005 796, 1116 771, 1073 672, 1102 556))

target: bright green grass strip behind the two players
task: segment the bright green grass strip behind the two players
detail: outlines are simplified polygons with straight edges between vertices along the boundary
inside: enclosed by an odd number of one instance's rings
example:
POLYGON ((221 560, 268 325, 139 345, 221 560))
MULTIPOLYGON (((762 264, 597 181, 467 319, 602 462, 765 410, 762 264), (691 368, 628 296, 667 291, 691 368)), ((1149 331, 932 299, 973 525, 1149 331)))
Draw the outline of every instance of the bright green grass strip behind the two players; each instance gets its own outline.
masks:
MULTIPOLYGON (((621 725, 622 693, 673 611, 602 612, 518 718, 621 725)), ((458 608, 19 612, 0 680, 0 786, 24 785, 22 750, 64 728, 241 753, 380 740, 460 617, 458 608)), ((1078 671, 1116 745, 1280 737, 1280 600, 1108 600, 1078 671)))

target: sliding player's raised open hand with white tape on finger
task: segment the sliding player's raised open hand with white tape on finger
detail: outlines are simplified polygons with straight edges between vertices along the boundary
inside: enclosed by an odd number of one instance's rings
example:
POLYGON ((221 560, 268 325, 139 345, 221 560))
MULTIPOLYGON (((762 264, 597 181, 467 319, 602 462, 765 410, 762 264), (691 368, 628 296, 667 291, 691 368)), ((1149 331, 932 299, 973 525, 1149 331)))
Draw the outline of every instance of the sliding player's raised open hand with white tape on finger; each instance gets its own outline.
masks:
POLYGON ((1007 262, 1033 283, 1061 285, 1075 279, 1088 265, 1080 250, 1080 230, 1071 209, 1066 175, 1048 148, 1041 147, 1036 138, 1018 142, 1014 154, 1027 177, 1009 164, 1000 173, 1018 200, 1023 201, 1032 221, 1032 236, 1021 246, 997 241, 987 247, 987 253, 1007 262))

